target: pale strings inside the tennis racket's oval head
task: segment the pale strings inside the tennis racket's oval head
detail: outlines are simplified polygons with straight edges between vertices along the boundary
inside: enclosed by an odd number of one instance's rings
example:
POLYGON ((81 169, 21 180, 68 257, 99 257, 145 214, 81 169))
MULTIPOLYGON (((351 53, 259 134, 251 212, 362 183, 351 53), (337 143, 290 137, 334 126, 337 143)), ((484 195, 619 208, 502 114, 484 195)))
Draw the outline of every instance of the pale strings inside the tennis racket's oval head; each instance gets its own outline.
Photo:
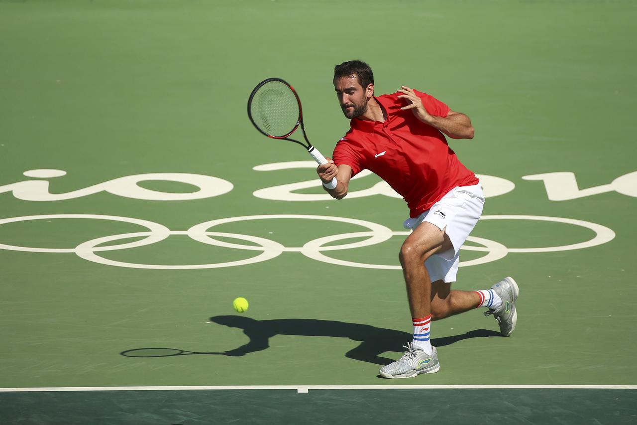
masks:
POLYGON ((299 102, 290 87, 282 82, 264 84, 252 100, 252 118, 259 130, 283 137, 299 123, 299 102))

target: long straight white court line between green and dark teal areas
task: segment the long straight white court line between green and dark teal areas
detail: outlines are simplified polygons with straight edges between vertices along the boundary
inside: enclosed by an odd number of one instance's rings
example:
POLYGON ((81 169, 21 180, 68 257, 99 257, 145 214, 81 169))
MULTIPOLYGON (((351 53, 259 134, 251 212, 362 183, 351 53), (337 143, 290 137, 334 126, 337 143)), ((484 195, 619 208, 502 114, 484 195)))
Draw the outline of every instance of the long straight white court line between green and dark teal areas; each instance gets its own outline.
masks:
POLYGON ((185 390, 296 390, 316 389, 637 389, 637 385, 189 385, 181 387, 16 387, 0 392, 54 391, 185 391, 185 390))

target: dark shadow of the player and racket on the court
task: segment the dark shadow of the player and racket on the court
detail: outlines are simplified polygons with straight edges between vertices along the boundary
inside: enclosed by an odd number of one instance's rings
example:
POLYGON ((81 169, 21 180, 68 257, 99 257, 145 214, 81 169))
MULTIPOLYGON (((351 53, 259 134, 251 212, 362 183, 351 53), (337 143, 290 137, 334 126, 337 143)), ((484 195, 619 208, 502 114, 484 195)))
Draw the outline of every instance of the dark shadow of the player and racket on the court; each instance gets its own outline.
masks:
MULTIPOLYGON (((177 348, 154 347, 135 348, 120 354, 126 357, 171 357, 191 354, 241 356, 265 350, 269 347, 269 339, 276 335, 332 336, 361 342, 357 347, 345 353, 345 357, 384 366, 396 359, 381 357, 381 354, 389 351, 402 353, 404 352, 404 343, 412 339, 412 334, 403 331, 357 323, 336 322, 334 320, 300 318, 255 320, 245 316, 234 315, 215 316, 211 317, 210 321, 228 327, 243 329, 243 333, 250 338, 250 341, 245 345, 241 345, 241 347, 225 352, 192 352, 177 348)), ((462 341, 462 339, 489 338, 491 336, 500 336, 500 334, 487 329, 476 329, 465 334, 434 338, 431 343, 434 347, 445 347, 445 345, 462 341)))

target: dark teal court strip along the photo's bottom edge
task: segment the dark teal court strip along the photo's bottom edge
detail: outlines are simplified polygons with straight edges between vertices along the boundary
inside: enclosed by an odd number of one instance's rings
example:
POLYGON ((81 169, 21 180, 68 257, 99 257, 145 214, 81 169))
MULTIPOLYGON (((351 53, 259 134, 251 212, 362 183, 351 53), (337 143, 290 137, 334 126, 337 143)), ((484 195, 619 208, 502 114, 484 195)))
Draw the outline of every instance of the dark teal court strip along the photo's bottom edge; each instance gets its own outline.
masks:
POLYGON ((20 425, 623 425, 637 419, 635 389, 637 385, 24 387, 0 389, 0 417, 20 425), (375 391, 387 389, 394 391, 375 391))

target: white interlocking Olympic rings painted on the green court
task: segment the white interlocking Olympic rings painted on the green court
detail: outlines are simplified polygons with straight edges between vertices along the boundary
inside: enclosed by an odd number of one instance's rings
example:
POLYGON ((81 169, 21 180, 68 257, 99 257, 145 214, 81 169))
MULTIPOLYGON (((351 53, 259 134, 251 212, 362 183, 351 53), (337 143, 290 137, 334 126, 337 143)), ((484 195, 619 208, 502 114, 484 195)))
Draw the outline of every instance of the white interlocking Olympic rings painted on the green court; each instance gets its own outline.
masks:
MULTIPOLYGON (((0 219, 0 225, 6 223, 16 223, 20 221, 32 221, 32 220, 52 220, 59 218, 75 218, 75 219, 90 219, 90 220, 110 220, 110 221, 122 221, 125 223, 131 223, 146 227, 148 230, 145 232, 132 232, 123 233, 117 235, 110 235, 104 237, 97 237, 90 241, 85 241, 75 246, 75 248, 34 248, 29 246, 15 246, 9 244, 0 243, 0 249, 11 251, 25 251, 25 252, 39 252, 39 253, 75 253, 78 257, 91 262, 113 265, 116 267, 130 267, 134 269, 160 269, 160 270, 185 270, 185 269, 217 269, 221 267, 233 267, 237 265, 255 264, 258 262, 270 260, 278 257, 284 252, 298 252, 305 257, 313 258, 320 262, 326 262, 329 264, 345 265, 348 267, 361 267, 364 269, 388 269, 399 270, 400 265, 385 265, 385 264, 366 264, 360 262, 353 262, 347 260, 341 260, 339 258, 330 257, 325 252, 350 250, 352 248, 362 248, 364 246, 371 246, 380 244, 389 240, 392 236, 400 235, 406 236, 410 234, 410 231, 395 232, 388 227, 373 223, 371 221, 357 220, 354 218, 334 217, 334 216, 315 216, 305 214, 264 214, 254 216, 240 216, 230 218, 220 218, 217 220, 205 221, 190 227, 188 230, 170 230, 168 227, 153 221, 141 220, 138 218, 120 217, 120 216, 108 216, 101 214, 43 214, 36 216, 22 216, 0 219), (364 227, 368 230, 362 232, 350 232, 337 235, 329 235, 324 237, 318 237, 309 242, 303 244, 303 246, 283 246, 279 242, 264 237, 257 237, 252 235, 244 235, 238 233, 228 232, 214 232, 210 229, 222 225, 225 223, 236 223, 240 221, 253 221, 253 220, 288 220, 288 219, 302 219, 302 220, 326 220, 326 221, 338 221, 340 223, 349 223, 364 227), (218 262, 211 264, 137 264, 131 262, 122 262, 116 260, 110 260, 108 258, 101 257, 98 253, 104 251, 126 250, 130 248, 138 248, 140 246, 147 246, 163 241, 170 235, 188 235, 191 239, 203 244, 218 246, 222 248, 231 248, 235 250, 248 250, 255 251, 257 255, 247 258, 245 260, 235 260, 228 262, 218 262), (127 242, 117 245, 101 246, 108 242, 115 242, 124 239, 143 237, 138 241, 127 242), (215 237, 225 237, 227 239, 235 239, 238 241, 252 242, 255 245, 247 245, 241 243, 231 243, 215 239, 215 237), (366 237, 362 241, 342 243, 338 245, 327 245, 331 242, 344 241, 345 239, 354 239, 366 237)), ((505 245, 485 239, 482 237, 469 236, 468 241, 482 246, 462 246, 462 250, 479 251, 486 253, 483 257, 475 258, 461 262, 461 266, 485 264, 488 262, 496 261, 504 258, 508 253, 538 253, 538 252, 555 252, 555 251, 568 251, 579 250, 582 248, 589 248, 591 246, 597 246, 612 241, 615 237, 615 232, 608 227, 598 225, 596 223, 590 223, 589 221, 573 220, 569 218, 561 217, 548 217, 548 216, 527 216, 527 215, 491 215, 482 216, 480 220, 536 220, 536 221, 553 221, 557 223, 564 223, 567 225, 575 225, 592 230, 595 236, 589 241, 578 242, 575 244, 568 244, 562 246, 548 246, 543 248, 508 248, 505 245)), ((314 227, 317 227, 315 225, 314 227)))

